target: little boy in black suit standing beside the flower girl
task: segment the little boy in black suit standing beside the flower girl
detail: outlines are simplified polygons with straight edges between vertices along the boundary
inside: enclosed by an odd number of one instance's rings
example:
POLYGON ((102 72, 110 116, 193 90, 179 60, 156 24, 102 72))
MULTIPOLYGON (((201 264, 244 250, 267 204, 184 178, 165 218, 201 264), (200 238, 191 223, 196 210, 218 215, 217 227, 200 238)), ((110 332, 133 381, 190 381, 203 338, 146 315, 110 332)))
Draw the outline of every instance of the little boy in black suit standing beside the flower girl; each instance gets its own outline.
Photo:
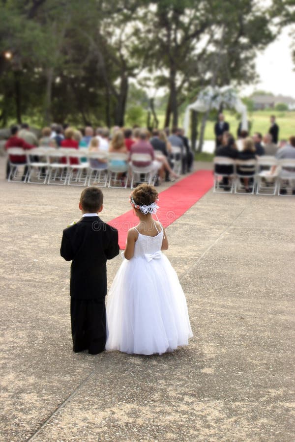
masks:
POLYGON ((82 219, 63 230, 60 255, 71 261, 71 328, 73 351, 96 355, 106 344, 107 259, 119 253, 118 230, 101 221, 103 193, 88 187, 81 193, 82 219))

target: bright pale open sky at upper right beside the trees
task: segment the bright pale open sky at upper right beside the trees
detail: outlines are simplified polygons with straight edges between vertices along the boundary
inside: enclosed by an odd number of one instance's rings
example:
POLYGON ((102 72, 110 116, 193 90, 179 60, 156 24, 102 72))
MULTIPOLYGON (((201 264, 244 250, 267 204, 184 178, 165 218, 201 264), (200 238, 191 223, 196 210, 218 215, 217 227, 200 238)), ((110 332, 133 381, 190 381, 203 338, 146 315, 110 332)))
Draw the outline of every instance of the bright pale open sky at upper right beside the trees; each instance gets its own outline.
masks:
POLYGON ((295 98, 295 64, 292 60, 290 28, 285 28, 266 50, 257 55, 256 69, 260 83, 242 89, 242 95, 265 90, 275 95, 295 98))

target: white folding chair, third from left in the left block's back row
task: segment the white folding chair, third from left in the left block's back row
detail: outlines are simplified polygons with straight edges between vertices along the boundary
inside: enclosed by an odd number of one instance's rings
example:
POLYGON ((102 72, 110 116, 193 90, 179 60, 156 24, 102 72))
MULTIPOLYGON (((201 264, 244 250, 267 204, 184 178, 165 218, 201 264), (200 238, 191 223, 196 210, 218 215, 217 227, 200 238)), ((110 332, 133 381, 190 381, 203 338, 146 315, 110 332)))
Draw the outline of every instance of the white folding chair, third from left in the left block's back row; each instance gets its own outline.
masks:
POLYGON ((47 184, 65 186, 68 177, 68 150, 56 149, 48 155, 48 181, 47 184), (63 162, 65 159, 65 163, 63 162))

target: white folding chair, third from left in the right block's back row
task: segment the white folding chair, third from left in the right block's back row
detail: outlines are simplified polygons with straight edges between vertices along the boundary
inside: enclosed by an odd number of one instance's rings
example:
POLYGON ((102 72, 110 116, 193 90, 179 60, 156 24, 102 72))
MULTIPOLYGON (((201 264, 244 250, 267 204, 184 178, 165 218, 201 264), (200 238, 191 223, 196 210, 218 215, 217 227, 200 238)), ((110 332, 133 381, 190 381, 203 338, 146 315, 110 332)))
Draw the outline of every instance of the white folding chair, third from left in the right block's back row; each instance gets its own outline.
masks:
POLYGON ((257 195, 275 195, 278 187, 278 171, 270 175, 272 166, 277 166, 275 157, 263 155, 257 159, 256 170, 256 194, 257 195))

